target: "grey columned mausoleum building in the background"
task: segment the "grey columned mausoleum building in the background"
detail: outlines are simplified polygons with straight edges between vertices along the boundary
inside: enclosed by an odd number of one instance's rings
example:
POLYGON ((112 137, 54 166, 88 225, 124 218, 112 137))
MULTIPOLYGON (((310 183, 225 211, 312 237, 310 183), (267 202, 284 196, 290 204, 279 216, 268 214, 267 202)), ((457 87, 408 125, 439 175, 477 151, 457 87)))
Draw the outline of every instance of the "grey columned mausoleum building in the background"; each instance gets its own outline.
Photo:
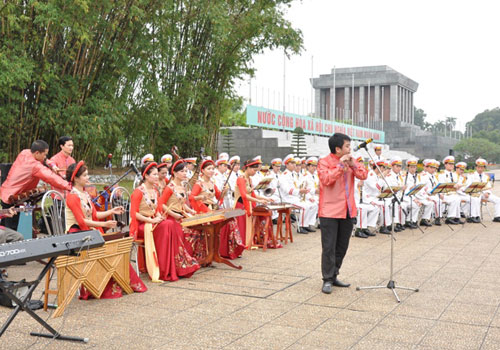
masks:
POLYGON ((413 124, 413 94, 418 83, 391 67, 332 69, 331 74, 313 78, 311 83, 314 114, 322 119, 351 119, 354 110, 356 125, 380 125, 382 118, 383 122, 413 124))

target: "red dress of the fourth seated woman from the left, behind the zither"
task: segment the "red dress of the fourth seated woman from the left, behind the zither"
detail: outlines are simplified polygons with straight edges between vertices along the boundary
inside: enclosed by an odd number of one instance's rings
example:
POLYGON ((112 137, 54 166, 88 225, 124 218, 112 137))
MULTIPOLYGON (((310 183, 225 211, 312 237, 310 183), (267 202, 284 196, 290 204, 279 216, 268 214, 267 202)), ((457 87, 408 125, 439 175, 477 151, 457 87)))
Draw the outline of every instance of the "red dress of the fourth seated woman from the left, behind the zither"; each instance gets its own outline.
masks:
MULTIPOLYGON (((214 205, 220 199, 220 196, 221 192, 214 183, 206 184, 203 181, 198 181, 191 190, 189 202, 191 208, 196 210, 197 213, 208 213, 213 211, 214 205), (195 200, 195 197, 200 194, 206 194, 205 198, 209 199, 205 200, 205 202, 195 200)), ((221 228, 219 240, 219 254, 224 258, 236 259, 245 250, 236 219, 229 220, 221 228)))

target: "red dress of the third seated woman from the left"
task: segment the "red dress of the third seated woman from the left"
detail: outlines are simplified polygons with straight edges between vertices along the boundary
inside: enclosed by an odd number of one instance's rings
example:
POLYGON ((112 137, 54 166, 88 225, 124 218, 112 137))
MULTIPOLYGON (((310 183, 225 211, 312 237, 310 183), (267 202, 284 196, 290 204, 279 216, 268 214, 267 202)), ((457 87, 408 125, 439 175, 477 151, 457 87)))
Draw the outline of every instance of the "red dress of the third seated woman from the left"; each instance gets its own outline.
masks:
MULTIPOLYGON (((178 187, 171 182, 165 189, 160 198, 160 207, 166 205, 169 210, 183 215, 184 205, 187 201, 187 194, 184 187, 178 187)), ((197 261, 205 261, 208 255, 207 236, 203 231, 193 230, 189 227, 182 227, 179 222, 172 216, 168 216, 167 220, 171 221, 177 229, 184 233, 186 239, 186 248, 191 256, 197 261)))

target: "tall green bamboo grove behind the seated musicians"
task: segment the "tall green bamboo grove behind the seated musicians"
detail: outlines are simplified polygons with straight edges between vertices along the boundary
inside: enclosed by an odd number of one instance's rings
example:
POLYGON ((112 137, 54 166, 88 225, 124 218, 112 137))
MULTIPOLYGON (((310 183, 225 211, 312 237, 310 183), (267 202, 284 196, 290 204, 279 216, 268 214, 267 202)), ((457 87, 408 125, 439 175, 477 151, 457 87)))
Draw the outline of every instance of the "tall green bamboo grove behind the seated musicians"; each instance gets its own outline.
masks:
POLYGON ((302 49, 292 0, 0 0, 0 161, 35 139, 75 158, 214 151, 234 84, 302 49))

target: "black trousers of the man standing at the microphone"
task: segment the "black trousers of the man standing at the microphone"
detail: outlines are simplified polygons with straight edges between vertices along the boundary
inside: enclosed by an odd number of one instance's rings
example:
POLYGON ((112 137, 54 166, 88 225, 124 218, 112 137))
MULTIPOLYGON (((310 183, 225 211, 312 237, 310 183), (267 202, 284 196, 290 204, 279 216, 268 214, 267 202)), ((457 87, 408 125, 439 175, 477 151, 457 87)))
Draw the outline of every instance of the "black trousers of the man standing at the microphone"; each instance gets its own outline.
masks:
POLYGON ((332 281, 339 274, 349 247, 353 228, 352 219, 319 218, 321 227, 321 273, 323 281, 332 281))

